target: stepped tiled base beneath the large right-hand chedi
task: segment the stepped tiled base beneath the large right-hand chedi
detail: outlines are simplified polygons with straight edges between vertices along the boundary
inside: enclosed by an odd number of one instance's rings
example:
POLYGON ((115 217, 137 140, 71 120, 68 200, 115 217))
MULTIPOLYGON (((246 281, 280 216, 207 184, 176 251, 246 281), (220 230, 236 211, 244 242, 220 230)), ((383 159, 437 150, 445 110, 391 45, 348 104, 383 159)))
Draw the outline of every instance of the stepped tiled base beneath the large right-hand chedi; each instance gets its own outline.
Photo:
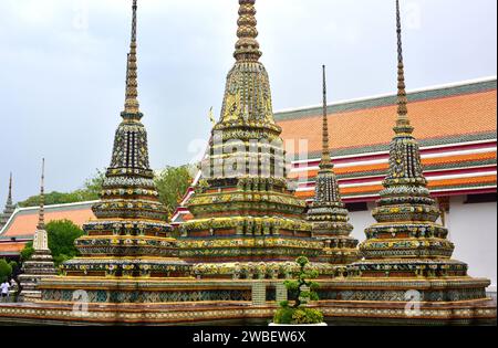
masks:
POLYGON ((484 278, 336 278, 319 291, 324 315, 346 325, 496 324, 484 278))

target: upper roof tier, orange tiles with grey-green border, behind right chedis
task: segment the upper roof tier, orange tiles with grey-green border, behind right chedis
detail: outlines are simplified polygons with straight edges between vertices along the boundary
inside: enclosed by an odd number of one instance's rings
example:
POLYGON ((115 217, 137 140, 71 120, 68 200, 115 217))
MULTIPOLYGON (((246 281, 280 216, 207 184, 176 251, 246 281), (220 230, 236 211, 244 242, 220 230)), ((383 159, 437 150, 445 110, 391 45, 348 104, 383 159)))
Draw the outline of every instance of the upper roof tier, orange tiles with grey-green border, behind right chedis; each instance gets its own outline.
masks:
MULTIPOLYGON (((496 77, 408 93, 409 118, 422 145, 439 145, 454 138, 496 138, 496 77)), ((329 105, 332 155, 385 150, 393 136, 396 95, 375 96, 329 105), (345 137, 344 134, 349 136, 345 137)), ((322 147, 320 106, 277 112, 284 139, 308 139, 309 154, 322 147)))

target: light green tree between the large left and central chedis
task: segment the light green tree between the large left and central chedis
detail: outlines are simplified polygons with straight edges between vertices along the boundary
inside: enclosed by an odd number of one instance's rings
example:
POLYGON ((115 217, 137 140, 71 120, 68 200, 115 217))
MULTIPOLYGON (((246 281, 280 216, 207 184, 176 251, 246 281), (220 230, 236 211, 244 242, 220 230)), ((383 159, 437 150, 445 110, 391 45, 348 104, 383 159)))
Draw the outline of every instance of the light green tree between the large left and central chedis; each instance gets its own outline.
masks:
POLYGON ((169 218, 180 203, 191 184, 191 166, 167 167, 155 179, 160 202, 166 207, 169 218))

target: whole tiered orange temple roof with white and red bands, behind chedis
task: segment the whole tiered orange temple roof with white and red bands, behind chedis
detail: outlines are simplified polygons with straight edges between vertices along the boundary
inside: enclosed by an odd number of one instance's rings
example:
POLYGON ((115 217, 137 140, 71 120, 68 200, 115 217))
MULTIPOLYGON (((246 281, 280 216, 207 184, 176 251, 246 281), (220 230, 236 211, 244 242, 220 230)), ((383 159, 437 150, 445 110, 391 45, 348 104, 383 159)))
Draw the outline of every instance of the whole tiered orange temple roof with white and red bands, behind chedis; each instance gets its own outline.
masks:
MULTIPOLYGON (((407 97, 411 124, 433 194, 496 192, 497 78, 408 91, 407 97)), ((396 108, 394 93, 329 104, 332 160, 345 202, 378 198, 388 169, 393 137, 390 125, 395 124, 396 108)), ((322 107, 281 110, 274 113, 274 118, 283 129, 282 138, 297 149, 300 139, 308 140, 308 149, 301 156, 298 150, 290 151, 294 157, 290 177, 299 181, 297 196, 311 200, 322 152, 322 107)), ((188 210, 180 207, 173 223, 189 218, 188 210)))

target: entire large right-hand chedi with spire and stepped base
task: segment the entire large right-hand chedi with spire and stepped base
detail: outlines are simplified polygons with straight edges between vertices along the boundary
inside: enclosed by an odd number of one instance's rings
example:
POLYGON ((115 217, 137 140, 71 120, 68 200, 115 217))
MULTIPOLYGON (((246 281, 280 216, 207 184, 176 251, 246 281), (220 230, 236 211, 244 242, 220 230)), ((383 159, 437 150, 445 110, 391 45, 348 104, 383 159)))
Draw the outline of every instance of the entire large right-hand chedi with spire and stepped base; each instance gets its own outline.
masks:
POLYGON ((390 171, 373 210, 377 222, 360 244, 364 260, 349 265, 347 278, 335 282, 329 298, 340 303, 328 314, 413 323, 496 319, 496 306, 486 297, 490 282, 471 278, 465 263, 450 259, 454 244, 437 222, 439 208, 427 188, 408 118, 398 0, 396 10, 398 116, 390 171))

